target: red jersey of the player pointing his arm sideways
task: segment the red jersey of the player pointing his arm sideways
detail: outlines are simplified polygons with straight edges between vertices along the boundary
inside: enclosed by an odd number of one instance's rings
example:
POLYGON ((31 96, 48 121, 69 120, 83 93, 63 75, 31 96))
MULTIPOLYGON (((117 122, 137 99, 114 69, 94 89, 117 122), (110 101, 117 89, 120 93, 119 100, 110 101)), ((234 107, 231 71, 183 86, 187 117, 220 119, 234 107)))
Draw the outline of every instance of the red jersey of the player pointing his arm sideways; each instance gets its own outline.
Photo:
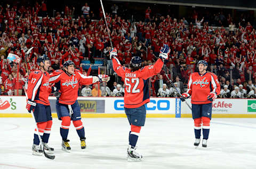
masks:
POLYGON ((86 77, 76 70, 72 75, 69 75, 62 70, 55 70, 50 74, 50 83, 55 83, 55 86, 60 88, 61 91, 59 103, 65 105, 73 105, 76 102, 79 84, 91 85, 98 81, 98 77, 86 77))

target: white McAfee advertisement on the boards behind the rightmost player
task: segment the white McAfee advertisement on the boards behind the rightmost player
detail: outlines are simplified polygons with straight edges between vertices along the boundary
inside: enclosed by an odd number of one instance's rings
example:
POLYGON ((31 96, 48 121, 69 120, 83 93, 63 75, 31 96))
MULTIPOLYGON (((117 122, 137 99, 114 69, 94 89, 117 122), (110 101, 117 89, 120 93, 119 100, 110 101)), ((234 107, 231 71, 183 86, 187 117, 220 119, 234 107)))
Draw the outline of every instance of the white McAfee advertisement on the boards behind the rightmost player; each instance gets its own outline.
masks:
MULTIPOLYGON (((191 99, 187 102, 191 105, 191 99)), ((246 114, 247 113, 247 99, 221 99, 217 98, 212 103, 213 114, 246 114)), ((182 103, 182 113, 191 113, 188 106, 182 103)))

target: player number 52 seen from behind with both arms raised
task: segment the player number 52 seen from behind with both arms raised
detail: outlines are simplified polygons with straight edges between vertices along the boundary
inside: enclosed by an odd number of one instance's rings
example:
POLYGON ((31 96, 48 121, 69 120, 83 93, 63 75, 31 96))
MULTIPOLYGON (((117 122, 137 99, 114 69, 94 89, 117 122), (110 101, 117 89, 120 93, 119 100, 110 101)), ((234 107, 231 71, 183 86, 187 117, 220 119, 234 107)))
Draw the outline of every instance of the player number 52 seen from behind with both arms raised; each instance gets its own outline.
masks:
POLYGON ((139 137, 141 126, 144 126, 146 119, 145 104, 149 103, 148 78, 159 73, 170 53, 169 46, 161 48, 159 59, 154 65, 141 68, 141 58, 134 56, 130 62, 130 68, 124 67, 117 59, 117 49, 110 52, 110 59, 113 62, 114 71, 124 79, 124 110, 131 125, 129 133, 129 148, 127 158, 129 161, 140 161, 142 155, 137 153, 136 143, 139 137))

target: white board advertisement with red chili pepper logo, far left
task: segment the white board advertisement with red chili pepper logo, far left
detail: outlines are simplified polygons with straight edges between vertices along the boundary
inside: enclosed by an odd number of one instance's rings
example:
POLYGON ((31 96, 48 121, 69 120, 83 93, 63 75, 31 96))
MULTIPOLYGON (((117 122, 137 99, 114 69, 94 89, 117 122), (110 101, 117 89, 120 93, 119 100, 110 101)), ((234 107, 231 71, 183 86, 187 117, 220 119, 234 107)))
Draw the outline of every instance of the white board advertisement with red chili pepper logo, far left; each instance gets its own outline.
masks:
POLYGON ((26 98, 0 96, 0 113, 26 113, 26 98))

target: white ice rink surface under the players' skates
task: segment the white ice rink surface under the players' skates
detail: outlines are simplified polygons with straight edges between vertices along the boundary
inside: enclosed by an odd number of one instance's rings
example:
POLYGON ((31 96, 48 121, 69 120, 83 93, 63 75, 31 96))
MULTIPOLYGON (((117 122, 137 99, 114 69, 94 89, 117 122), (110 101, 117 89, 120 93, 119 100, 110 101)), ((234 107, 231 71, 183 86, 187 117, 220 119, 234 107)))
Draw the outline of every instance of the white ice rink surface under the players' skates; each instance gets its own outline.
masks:
POLYGON ((126 119, 82 121, 87 147, 80 148, 71 123, 71 153, 66 153, 61 150, 60 121, 53 119, 49 145, 56 157, 50 160, 31 155, 33 119, 0 118, 0 168, 256 168, 255 119, 213 119, 208 147, 195 149, 192 119, 148 118, 137 143, 142 162, 127 162, 126 119))

